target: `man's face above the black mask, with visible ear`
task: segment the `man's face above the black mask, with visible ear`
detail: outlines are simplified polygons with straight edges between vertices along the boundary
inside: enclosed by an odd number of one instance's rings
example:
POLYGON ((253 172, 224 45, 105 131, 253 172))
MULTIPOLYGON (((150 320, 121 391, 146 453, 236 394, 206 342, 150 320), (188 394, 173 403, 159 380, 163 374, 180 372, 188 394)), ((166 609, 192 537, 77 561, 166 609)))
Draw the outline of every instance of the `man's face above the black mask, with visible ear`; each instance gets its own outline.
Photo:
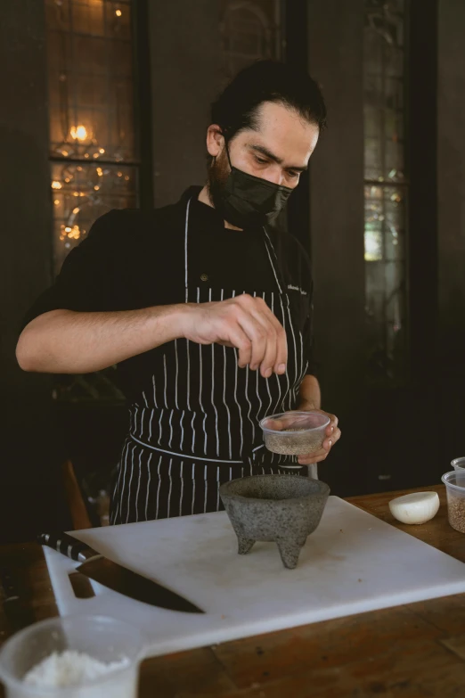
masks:
MULTIPOLYGON (((257 120, 257 131, 241 131, 229 143, 232 166, 273 184, 295 188, 318 142, 319 128, 272 102, 259 107, 257 120)), ((224 137, 215 127, 208 129, 207 144, 208 152, 216 158, 208 172, 208 188, 216 205, 230 168, 224 137)))

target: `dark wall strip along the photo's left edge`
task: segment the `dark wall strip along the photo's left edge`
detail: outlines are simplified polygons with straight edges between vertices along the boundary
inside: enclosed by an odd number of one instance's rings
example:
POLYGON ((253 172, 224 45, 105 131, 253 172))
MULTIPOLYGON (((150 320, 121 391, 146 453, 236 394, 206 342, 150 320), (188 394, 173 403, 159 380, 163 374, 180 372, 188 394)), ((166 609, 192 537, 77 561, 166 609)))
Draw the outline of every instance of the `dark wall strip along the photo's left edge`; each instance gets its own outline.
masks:
POLYGON ((0 375, 3 444, 0 539, 29 538, 57 521, 50 384, 27 375, 14 349, 21 317, 51 279, 44 4, 2 6, 0 22, 0 375))

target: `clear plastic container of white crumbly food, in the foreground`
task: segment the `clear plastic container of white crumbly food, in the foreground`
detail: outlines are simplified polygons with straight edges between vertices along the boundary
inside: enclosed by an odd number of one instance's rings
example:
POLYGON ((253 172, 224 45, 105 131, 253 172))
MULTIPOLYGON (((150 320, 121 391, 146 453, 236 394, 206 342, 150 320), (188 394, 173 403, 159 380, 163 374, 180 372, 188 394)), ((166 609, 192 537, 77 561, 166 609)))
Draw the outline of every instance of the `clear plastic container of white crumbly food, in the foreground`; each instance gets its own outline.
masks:
POLYGON ((0 651, 0 680, 7 698, 136 698, 143 633, 105 616, 65 616, 20 630, 0 651), (74 650, 105 663, 126 659, 121 668, 78 686, 32 686, 23 679, 52 653, 74 650))

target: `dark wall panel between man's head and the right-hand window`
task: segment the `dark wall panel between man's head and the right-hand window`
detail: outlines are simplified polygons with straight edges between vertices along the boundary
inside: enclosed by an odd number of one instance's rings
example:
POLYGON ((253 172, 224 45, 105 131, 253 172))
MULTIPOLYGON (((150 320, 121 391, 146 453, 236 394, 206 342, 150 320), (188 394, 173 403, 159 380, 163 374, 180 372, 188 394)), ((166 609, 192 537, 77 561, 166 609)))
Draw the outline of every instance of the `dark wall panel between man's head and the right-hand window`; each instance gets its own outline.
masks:
POLYGON ((348 494, 360 488, 365 443, 363 0, 309 0, 308 47, 329 114, 310 167, 314 331, 322 406, 343 431, 320 476, 348 494))

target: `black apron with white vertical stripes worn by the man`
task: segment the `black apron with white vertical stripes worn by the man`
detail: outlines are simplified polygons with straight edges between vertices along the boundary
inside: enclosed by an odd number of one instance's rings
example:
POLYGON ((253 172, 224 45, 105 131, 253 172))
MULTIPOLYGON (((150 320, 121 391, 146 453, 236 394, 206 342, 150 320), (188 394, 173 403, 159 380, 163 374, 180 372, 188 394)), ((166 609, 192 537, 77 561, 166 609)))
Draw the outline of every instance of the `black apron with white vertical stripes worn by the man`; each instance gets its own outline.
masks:
POLYGON ((298 406, 308 365, 303 336, 284 292, 273 244, 263 231, 275 290, 219 289, 190 283, 189 201, 184 230, 185 302, 263 298, 288 339, 286 373, 265 379, 241 369, 237 350, 178 339, 159 348, 150 389, 130 406, 130 430, 112 486, 110 523, 207 513, 223 508, 218 488, 252 474, 307 475, 296 456, 266 451, 259 422, 298 406))

